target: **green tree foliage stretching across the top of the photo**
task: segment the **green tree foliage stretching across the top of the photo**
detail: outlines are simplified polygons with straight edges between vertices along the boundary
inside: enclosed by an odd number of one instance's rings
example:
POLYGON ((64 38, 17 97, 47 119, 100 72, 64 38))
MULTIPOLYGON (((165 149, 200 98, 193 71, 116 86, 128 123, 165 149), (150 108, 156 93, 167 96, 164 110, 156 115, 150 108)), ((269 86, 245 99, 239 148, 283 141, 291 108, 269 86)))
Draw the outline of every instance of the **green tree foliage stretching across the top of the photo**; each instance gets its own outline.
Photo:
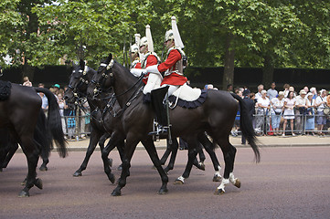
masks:
POLYGON ((122 61, 123 46, 149 24, 160 55, 176 16, 190 65, 223 66, 233 36, 237 67, 330 68, 329 8, 316 0, 3 0, 0 53, 40 66, 77 59, 83 47, 90 65, 109 52, 122 61))

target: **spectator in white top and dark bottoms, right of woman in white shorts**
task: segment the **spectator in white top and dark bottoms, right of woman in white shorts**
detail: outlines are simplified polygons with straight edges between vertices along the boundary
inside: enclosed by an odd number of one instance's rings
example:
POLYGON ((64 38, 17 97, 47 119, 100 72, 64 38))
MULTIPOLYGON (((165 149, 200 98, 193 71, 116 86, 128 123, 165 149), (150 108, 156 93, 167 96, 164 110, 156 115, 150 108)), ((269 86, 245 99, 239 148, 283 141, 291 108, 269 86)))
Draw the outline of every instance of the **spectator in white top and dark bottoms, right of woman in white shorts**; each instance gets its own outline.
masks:
POLYGON ((298 133, 303 133, 303 116, 306 115, 306 91, 304 89, 299 91, 299 96, 295 98, 295 130, 298 133))

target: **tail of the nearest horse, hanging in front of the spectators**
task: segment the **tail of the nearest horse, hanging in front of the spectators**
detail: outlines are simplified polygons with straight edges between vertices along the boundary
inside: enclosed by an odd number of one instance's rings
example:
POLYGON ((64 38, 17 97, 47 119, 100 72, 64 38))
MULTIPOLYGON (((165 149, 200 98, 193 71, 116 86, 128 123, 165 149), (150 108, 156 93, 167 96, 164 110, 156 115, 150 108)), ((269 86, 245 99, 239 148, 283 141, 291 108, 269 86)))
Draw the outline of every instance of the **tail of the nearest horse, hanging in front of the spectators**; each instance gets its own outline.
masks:
POLYGON ((254 132, 252 120, 250 120, 249 116, 249 109, 243 99, 240 98, 239 95, 230 93, 234 99, 237 99, 240 102, 240 130, 242 135, 247 139, 249 142, 254 155, 256 162, 261 161, 261 154, 257 145, 257 137, 256 133, 254 132))

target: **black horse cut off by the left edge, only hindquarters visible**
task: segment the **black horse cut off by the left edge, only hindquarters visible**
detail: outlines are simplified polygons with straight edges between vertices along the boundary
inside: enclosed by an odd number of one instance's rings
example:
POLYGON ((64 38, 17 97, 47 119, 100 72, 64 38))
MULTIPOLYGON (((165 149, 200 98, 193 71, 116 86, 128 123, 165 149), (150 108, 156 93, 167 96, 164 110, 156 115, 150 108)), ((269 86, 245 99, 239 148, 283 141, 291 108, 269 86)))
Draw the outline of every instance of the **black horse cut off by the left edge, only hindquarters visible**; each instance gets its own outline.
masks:
MULTIPOLYGON (((45 116, 45 115, 44 115, 45 116)), ((42 188, 42 182, 37 179, 37 161, 41 148, 44 146, 50 150, 54 140, 58 146, 59 155, 67 155, 66 141, 59 115, 59 105, 55 96, 48 89, 29 88, 12 84, 8 99, 0 101, 0 129, 6 128, 21 146, 27 156, 27 183, 19 196, 29 196, 29 190, 36 185, 42 188), (48 120, 39 120, 41 99, 37 92, 43 92, 48 98, 48 120), (44 126, 37 125, 43 122, 44 126), (39 129, 45 127, 46 129, 39 129), (41 145, 39 142, 42 142, 41 145)))

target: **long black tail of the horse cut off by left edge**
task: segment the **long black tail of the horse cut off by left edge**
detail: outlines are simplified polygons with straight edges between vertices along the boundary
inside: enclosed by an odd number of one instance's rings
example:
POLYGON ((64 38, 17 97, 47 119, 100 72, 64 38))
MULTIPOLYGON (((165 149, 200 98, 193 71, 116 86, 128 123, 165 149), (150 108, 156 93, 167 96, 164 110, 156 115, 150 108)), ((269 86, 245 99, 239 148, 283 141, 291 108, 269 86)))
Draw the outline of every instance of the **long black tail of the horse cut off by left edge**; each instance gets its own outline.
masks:
POLYGON ((67 141, 64 139, 62 130, 62 122, 59 114, 59 103, 55 95, 48 89, 35 88, 37 92, 42 92, 48 98, 48 130, 50 131, 52 139, 55 141, 59 156, 66 157, 67 141))

